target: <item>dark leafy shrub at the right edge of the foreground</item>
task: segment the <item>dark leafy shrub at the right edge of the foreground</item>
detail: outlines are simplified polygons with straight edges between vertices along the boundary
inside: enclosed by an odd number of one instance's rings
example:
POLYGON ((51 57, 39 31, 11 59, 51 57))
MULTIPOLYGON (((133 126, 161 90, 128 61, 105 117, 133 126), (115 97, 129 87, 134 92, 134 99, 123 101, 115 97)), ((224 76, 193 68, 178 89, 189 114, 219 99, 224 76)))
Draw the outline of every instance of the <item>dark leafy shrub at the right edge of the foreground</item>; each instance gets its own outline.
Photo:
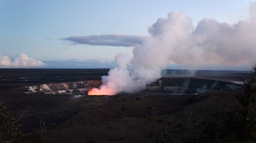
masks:
POLYGON ((245 110, 225 110, 222 135, 228 141, 256 139, 256 92, 252 84, 256 83, 256 65, 251 70, 252 79, 244 81, 244 93, 237 96, 245 110))

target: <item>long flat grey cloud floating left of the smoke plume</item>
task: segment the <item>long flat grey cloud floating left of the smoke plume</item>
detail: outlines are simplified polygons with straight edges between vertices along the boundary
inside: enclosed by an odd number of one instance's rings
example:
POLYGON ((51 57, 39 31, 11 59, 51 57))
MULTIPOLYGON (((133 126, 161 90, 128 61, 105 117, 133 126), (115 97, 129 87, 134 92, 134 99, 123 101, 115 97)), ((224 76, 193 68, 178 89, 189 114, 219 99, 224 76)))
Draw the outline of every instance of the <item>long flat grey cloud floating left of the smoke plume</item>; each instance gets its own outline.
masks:
POLYGON ((68 38, 63 38, 63 40, 72 41, 77 44, 131 47, 141 44, 144 38, 145 36, 104 34, 91 36, 70 36, 68 38))

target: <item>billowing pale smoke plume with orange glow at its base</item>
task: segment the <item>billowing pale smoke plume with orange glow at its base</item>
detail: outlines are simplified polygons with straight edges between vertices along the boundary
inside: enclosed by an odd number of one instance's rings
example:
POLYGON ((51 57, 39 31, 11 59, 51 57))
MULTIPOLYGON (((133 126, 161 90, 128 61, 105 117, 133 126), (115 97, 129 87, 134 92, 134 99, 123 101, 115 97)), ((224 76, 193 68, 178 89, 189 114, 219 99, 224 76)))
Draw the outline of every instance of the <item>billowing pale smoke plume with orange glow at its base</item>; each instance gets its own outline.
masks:
POLYGON ((133 57, 119 53, 117 67, 102 76, 102 85, 90 95, 115 95, 142 90, 161 77, 168 63, 188 66, 251 65, 256 59, 256 3, 250 17, 233 24, 204 18, 196 27, 182 12, 159 18, 150 28, 150 36, 133 49, 133 57))

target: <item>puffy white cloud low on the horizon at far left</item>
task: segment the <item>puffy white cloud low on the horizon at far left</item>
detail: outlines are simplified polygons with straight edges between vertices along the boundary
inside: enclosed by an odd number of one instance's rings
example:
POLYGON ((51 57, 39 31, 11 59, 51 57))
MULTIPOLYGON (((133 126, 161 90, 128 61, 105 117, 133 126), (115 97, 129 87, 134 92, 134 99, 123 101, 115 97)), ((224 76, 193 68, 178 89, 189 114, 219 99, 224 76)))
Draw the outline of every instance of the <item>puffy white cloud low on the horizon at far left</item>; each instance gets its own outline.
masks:
POLYGON ((8 56, 0 55, 0 68, 32 68, 43 67, 45 63, 29 58, 28 55, 20 53, 15 58, 11 59, 8 56))

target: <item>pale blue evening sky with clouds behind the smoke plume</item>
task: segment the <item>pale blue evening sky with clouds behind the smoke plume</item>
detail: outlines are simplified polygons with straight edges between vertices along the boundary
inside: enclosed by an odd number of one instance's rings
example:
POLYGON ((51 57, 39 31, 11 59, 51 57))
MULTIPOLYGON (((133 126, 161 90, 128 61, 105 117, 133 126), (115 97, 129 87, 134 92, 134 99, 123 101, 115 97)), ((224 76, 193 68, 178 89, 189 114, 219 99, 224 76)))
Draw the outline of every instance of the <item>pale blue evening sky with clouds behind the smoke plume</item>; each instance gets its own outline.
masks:
MULTIPOLYGON (((113 68, 115 55, 133 57, 133 48, 154 36, 150 27, 170 12, 183 12, 194 27, 204 18, 233 24, 248 19, 252 2, 0 0, 0 68, 113 68)), ((251 62, 200 66, 171 59, 166 68, 247 70, 251 62)))

